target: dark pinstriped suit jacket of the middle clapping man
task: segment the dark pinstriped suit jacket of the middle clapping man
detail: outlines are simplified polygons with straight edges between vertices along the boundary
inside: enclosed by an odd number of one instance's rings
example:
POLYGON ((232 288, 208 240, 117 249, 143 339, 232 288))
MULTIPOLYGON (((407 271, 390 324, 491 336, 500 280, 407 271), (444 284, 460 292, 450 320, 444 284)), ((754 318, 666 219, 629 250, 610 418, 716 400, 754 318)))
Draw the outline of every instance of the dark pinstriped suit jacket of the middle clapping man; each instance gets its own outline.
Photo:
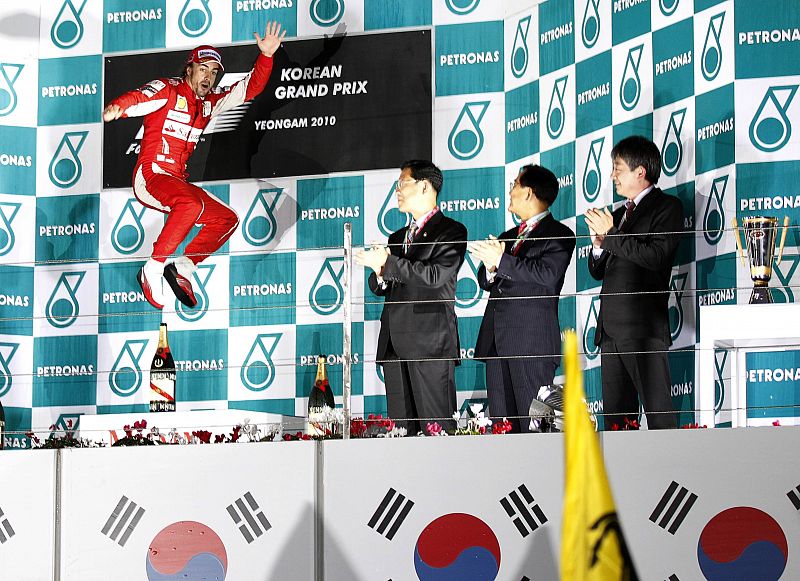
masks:
MULTIPOLYGON (((500 235, 500 239, 516 237, 516 228, 500 235)), ((548 214, 523 239, 516 256, 511 254, 512 246, 513 242, 506 242, 492 282, 486 281, 483 264, 478 269, 478 284, 489 291, 489 301, 478 332, 475 357, 488 357, 494 344, 502 356, 553 355, 558 359, 558 297, 575 250, 575 233, 548 214)))

